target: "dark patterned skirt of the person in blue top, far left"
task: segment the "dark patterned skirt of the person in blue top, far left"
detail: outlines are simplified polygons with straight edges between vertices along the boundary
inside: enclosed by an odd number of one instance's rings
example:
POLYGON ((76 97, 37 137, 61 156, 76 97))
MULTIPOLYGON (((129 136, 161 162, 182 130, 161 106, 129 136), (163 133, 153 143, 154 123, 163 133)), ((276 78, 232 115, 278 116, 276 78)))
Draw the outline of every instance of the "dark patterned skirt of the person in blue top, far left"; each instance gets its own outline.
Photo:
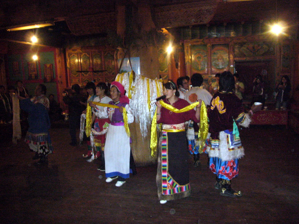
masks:
POLYGON ((28 143, 31 151, 37 152, 39 155, 46 156, 53 153, 53 147, 48 133, 34 134, 27 132, 25 142, 28 143))

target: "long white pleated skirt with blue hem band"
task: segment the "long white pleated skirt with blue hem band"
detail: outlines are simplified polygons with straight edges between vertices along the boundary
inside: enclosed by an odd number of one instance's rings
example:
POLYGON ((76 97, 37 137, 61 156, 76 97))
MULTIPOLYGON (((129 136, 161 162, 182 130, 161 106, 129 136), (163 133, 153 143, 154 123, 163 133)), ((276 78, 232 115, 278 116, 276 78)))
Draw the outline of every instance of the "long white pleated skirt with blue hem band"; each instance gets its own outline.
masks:
POLYGON ((109 124, 105 143, 106 177, 130 176, 130 138, 124 126, 109 124))

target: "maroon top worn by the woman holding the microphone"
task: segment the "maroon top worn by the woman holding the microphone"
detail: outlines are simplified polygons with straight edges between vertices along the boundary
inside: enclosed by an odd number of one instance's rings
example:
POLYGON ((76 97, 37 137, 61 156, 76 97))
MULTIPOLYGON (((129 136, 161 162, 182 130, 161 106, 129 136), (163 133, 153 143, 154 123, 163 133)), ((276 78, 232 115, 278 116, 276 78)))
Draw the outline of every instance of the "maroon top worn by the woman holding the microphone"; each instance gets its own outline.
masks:
MULTIPOLYGON (((163 99, 163 102, 170 105, 170 103, 166 99, 163 99)), ((188 105, 190 104, 186 100, 178 98, 178 100, 172 106, 180 110, 184 107, 187 107, 188 105)), ((166 125, 177 125, 189 120, 193 120, 196 123, 199 122, 199 120, 197 120, 195 117, 194 109, 183 113, 174 113, 164 107, 161 107, 161 118, 157 121, 157 124, 163 123, 166 125)))

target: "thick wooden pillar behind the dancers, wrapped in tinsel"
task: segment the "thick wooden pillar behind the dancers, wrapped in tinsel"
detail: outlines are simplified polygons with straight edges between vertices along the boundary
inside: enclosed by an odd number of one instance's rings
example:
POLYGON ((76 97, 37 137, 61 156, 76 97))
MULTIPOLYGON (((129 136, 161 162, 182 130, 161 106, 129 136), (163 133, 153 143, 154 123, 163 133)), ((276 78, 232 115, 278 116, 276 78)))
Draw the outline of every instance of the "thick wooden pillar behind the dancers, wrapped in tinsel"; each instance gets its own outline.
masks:
MULTIPOLYGON (((159 63, 158 63, 158 47, 155 44, 149 43, 147 40, 151 34, 151 30, 155 29, 155 25, 152 21, 150 7, 139 6, 133 7, 132 12, 125 12, 126 7, 123 5, 118 6, 117 16, 117 33, 119 36, 124 37, 127 35, 125 15, 126 13, 134 13, 132 30, 133 35, 138 36, 134 43, 130 46, 130 56, 139 57, 140 59, 140 73, 142 76, 149 79, 159 78, 159 63)), ((132 34, 131 34, 132 35, 132 34)), ((119 59, 123 57, 124 49, 119 49, 119 59)), ((126 55, 128 57, 128 55, 126 55)), ((146 99, 145 99, 146 100, 146 99)), ((148 135, 142 140, 140 125, 136 121, 129 125, 131 138, 132 138, 132 154, 135 159, 135 163, 138 166, 144 166, 153 164, 156 162, 156 157, 151 157, 150 150, 150 129, 148 135)))

